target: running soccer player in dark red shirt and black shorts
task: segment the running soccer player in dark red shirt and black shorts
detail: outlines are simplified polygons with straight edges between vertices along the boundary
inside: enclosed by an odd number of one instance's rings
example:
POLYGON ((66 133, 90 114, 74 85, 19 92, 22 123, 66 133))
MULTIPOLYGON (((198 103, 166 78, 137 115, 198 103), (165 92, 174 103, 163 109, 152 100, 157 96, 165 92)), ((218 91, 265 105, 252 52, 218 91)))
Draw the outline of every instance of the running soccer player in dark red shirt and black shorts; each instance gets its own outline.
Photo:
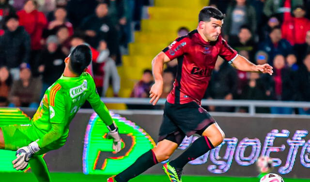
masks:
POLYGON ((163 64, 175 58, 178 73, 173 89, 167 96, 163 122, 157 146, 142 154, 134 164, 108 182, 127 182, 158 162, 169 159, 185 136, 201 135, 175 160, 163 167, 171 182, 181 182, 183 167, 191 160, 215 148, 224 139, 224 132, 201 100, 207 89, 217 56, 242 71, 272 75, 268 64, 255 65, 237 54, 220 35, 224 15, 214 7, 204 7, 199 13, 197 30, 177 38, 152 61, 155 84, 150 91, 150 103, 155 105, 163 91, 163 64))

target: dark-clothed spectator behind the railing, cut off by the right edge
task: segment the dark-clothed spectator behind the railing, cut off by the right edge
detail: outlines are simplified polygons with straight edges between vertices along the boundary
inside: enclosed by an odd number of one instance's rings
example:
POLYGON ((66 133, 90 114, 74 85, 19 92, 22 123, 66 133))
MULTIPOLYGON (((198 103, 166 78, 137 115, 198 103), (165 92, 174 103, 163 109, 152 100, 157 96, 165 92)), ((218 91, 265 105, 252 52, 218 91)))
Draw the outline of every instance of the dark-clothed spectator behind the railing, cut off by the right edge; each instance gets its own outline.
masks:
MULTIPOLYGON (((303 64, 300 66, 294 80, 297 88, 297 101, 310 102, 310 54, 308 54, 303 64)), ((310 108, 299 108, 299 114, 310 114, 310 108)))

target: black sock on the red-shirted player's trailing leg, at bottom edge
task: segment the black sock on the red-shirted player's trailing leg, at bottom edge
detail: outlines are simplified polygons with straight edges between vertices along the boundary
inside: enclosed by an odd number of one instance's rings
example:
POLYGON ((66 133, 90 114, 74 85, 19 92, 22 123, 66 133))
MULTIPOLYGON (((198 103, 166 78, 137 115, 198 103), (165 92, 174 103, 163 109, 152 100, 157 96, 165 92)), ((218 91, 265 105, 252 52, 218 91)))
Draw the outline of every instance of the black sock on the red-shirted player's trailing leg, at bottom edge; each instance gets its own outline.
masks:
POLYGON ((142 172, 146 171, 146 169, 157 164, 158 161, 156 159, 155 153, 152 150, 145 152, 142 154, 134 164, 127 167, 123 172, 116 175, 114 179, 117 182, 127 182, 128 180, 140 175, 142 172))

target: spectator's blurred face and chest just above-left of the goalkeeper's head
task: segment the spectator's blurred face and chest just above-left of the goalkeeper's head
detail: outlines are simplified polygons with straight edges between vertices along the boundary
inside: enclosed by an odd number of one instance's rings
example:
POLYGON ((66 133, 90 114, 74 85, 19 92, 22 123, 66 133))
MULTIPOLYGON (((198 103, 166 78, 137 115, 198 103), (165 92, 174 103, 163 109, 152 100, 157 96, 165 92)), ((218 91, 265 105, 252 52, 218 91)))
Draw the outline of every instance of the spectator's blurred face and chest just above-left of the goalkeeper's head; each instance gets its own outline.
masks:
POLYGON ((58 27, 56 35, 57 35, 57 39, 59 41, 63 54, 69 55, 70 48, 71 48, 71 44, 70 44, 71 39, 70 39, 70 33, 69 33, 68 28, 64 25, 58 27))

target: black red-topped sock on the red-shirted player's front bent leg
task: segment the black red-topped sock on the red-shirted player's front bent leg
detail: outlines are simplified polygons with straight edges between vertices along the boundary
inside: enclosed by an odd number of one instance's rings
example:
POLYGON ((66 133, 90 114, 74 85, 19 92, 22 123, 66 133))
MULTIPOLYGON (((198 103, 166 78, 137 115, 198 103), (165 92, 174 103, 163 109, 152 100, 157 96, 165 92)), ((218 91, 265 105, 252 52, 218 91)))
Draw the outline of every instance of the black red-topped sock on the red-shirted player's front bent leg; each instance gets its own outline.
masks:
POLYGON ((172 167, 181 169, 192 160, 202 156, 209 150, 213 149, 213 145, 207 136, 202 136, 196 139, 188 149, 183 152, 178 158, 171 161, 169 164, 172 167))

